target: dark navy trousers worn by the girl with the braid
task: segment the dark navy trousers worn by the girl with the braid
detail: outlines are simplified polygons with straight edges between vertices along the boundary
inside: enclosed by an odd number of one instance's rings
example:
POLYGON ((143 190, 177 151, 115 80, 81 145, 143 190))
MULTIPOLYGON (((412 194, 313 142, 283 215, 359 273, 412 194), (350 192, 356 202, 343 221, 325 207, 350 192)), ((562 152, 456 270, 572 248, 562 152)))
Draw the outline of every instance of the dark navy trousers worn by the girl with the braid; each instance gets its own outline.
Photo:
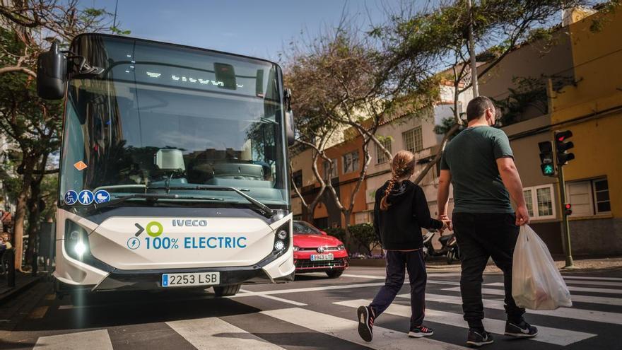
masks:
POLYGON ((375 317, 383 313, 404 285, 404 268, 408 269, 411 284, 411 329, 421 326, 423 313, 426 310, 426 262, 423 261, 423 251, 412 250, 402 252, 387 250, 387 279, 380 288, 370 307, 375 317))

